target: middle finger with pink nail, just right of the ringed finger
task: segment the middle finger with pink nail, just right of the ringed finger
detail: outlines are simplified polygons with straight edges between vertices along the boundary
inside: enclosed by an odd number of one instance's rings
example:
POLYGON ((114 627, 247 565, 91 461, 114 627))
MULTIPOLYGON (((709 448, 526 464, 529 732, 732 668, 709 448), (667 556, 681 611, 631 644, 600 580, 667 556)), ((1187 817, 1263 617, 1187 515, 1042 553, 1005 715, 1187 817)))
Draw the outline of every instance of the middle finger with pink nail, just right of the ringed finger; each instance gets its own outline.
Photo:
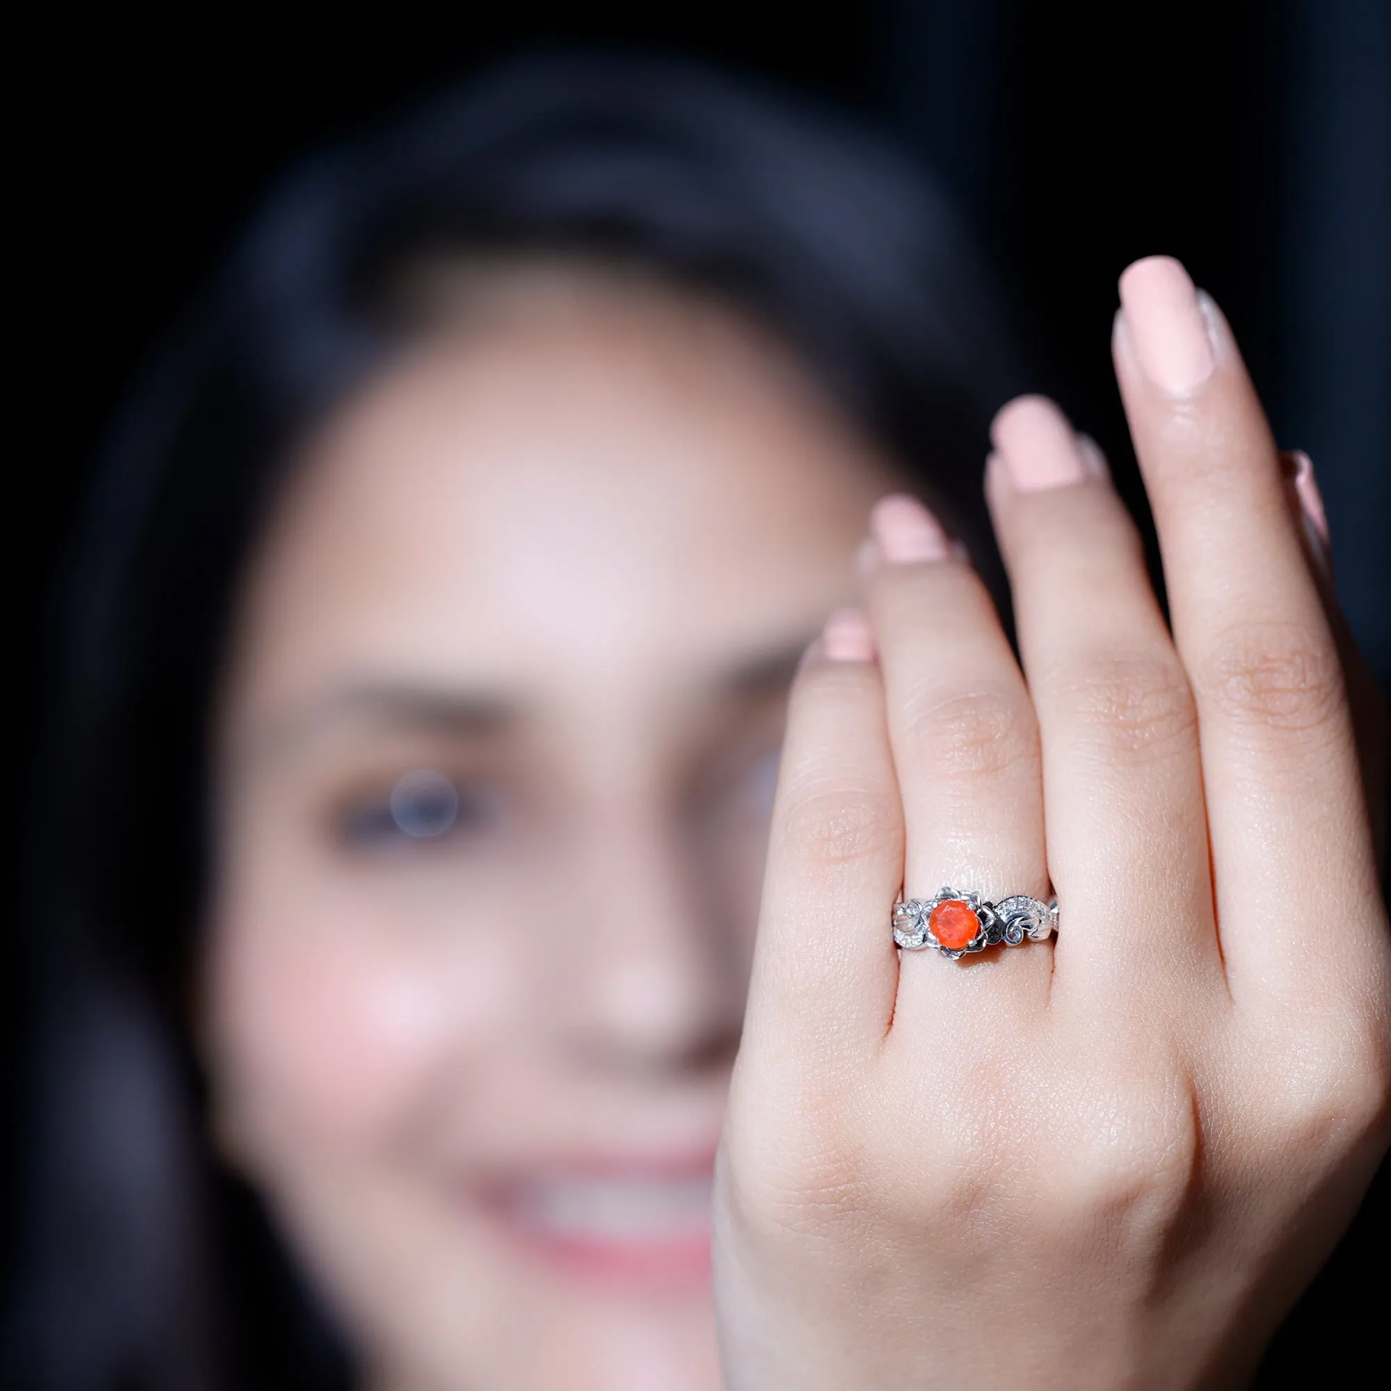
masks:
POLYGON ((1196 718, 1139 536, 1095 447, 1010 403, 988 470, 1042 727, 1061 906, 1054 1000, 1220 976, 1196 718))

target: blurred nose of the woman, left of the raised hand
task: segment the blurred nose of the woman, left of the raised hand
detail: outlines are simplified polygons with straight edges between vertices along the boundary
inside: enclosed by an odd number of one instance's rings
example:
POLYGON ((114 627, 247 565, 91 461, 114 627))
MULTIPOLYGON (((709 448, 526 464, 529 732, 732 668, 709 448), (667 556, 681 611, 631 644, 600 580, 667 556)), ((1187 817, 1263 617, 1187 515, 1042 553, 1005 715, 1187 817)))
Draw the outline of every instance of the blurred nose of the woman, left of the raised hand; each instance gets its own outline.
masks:
POLYGON ((727 1067, 751 924, 711 910, 675 815, 611 807, 580 843, 554 996, 569 1056, 634 1075, 727 1067))

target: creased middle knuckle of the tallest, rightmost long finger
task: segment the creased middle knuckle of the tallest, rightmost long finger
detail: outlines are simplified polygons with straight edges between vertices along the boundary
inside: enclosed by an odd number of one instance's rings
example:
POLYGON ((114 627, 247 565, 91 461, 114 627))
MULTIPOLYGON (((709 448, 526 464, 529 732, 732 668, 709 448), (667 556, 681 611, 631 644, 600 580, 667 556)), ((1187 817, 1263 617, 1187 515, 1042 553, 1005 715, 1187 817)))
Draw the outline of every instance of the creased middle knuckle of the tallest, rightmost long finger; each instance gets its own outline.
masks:
POLYGON ((1331 641, 1294 623, 1249 623, 1223 634, 1202 683, 1217 714, 1235 723, 1305 730, 1342 704, 1331 641))

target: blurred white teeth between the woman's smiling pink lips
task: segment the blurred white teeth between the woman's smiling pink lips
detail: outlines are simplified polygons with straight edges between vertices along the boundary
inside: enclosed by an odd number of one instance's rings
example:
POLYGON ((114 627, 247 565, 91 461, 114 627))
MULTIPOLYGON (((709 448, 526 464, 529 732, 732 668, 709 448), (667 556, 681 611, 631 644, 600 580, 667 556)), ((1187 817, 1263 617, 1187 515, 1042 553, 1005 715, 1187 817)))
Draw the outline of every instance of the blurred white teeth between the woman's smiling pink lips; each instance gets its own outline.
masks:
POLYGON ((555 1237, 670 1241, 709 1230, 709 1178, 587 1178, 527 1184, 515 1210, 555 1237))

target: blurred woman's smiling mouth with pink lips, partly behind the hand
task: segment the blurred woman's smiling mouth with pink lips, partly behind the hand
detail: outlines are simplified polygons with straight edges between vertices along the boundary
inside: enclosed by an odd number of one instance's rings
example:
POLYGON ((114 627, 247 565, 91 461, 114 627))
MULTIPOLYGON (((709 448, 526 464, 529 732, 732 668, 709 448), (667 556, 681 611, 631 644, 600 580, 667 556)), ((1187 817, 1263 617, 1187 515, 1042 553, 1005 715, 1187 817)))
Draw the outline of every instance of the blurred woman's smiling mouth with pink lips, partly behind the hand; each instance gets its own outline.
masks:
POLYGON ((548 1264, 645 1289, 709 1284, 711 1171, 570 1174, 510 1182, 490 1202, 548 1264))

